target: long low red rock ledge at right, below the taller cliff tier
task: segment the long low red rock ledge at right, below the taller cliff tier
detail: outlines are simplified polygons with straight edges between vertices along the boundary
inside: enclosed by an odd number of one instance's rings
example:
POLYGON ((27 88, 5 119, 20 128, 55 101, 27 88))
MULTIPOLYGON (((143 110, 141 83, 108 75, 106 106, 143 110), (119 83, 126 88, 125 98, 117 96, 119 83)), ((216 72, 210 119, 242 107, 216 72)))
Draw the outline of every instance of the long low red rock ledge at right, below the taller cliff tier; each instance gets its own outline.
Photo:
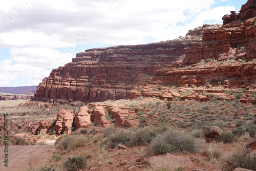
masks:
POLYGON ((155 77, 152 79, 154 83, 177 83, 193 86, 206 84, 206 81, 216 85, 219 81, 222 84, 227 84, 225 80, 228 80, 229 86, 242 86, 254 83, 256 80, 256 63, 234 63, 205 68, 158 70, 155 71, 154 75, 155 77))

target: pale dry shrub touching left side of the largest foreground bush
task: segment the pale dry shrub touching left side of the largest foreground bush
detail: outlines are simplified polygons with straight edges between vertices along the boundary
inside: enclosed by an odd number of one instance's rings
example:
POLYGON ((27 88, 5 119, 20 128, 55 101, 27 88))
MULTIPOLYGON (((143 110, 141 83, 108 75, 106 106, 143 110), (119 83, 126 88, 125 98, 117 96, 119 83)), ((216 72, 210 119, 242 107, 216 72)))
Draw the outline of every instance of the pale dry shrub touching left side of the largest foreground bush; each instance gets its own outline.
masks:
POLYGON ((131 145, 149 144, 156 137, 157 131, 149 127, 138 129, 132 134, 131 145))

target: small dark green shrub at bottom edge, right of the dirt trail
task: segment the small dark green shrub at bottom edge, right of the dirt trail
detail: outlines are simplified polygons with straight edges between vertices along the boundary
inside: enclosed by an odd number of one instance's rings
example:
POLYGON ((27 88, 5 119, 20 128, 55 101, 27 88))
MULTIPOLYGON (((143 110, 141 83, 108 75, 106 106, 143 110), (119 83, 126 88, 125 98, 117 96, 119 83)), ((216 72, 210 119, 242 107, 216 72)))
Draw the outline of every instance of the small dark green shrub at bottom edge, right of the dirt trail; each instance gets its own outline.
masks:
POLYGON ((67 171, 77 171, 86 167, 87 161, 82 157, 69 157, 68 161, 63 163, 63 167, 67 171))

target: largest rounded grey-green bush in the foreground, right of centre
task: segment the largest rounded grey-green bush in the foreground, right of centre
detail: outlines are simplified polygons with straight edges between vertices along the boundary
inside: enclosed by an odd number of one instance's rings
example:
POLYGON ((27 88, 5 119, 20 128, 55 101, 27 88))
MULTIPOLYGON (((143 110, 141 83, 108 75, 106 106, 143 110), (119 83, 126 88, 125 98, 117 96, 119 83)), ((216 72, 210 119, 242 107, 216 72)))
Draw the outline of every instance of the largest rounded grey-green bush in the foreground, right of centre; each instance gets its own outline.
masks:
POLYGON ((185 134, 182 131, 169 129, 152 140, 148 151, 157 155, 172 152, 194 153, 200 151, 200 145, 191 135, 185 134))

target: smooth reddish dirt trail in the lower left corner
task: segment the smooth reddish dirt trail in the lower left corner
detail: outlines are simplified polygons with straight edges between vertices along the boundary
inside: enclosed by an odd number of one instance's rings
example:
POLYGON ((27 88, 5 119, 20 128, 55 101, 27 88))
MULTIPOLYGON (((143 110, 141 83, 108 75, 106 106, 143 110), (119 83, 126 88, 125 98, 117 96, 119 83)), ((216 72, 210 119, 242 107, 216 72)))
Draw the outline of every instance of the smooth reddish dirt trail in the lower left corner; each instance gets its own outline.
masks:
POLYGON ((23 171, 33 166, 43 166, 53 156, 52 145, 8 146, 8 167, 4 166, 4 146, 0 147, 0 170, 23 171))

